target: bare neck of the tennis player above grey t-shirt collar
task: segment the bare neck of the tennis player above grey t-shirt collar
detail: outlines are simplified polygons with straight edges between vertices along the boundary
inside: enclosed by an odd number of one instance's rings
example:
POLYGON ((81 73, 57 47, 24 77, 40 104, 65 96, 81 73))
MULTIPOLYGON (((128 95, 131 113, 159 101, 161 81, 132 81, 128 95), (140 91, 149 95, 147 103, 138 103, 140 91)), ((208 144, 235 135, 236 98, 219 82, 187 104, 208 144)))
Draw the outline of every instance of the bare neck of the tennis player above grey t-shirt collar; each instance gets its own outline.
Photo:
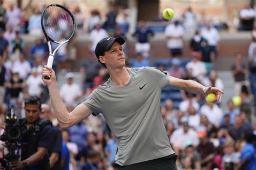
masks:
POLYGON ((109 70, 109 74, 113 84, 116 86, 124 86, 130 81, 130 74, 126 67, 109 70))

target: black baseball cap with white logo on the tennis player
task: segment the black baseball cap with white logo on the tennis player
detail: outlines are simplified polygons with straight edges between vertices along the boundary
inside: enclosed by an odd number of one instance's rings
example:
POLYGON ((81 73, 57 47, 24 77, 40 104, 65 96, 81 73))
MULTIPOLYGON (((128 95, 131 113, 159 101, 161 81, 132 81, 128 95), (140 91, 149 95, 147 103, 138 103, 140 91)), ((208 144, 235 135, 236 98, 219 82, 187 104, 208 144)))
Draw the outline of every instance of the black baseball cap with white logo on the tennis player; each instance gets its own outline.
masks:
POLYGON ((114 42, 118 42, 120 45, 123 45, 125 43, 125 40, 122 37, 117 37, 117 38, 107 37, 107 38, 103 38, 96 45, 96 48, 95 48, 95 55, 96 55, 96 57, 99 58, 99 56, 103 56, 103 53, 105 51, 109 50, 114 42))

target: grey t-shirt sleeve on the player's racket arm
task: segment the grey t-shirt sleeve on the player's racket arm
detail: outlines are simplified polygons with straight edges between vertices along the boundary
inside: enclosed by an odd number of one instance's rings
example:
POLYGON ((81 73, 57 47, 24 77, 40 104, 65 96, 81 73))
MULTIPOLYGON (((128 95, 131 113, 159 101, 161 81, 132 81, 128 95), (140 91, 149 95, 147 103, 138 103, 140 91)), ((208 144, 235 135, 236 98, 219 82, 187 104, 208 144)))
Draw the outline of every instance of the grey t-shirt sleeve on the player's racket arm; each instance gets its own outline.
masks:
POLYGON ((100 100, 100 94, 99 89, 93 90, 93 92, 90 94, 90 96, 83 102, 83 104, 90 108, 90 110, 93 112, 92 115, 98 115, 101 113, 102 110, 102 104, 100 100))

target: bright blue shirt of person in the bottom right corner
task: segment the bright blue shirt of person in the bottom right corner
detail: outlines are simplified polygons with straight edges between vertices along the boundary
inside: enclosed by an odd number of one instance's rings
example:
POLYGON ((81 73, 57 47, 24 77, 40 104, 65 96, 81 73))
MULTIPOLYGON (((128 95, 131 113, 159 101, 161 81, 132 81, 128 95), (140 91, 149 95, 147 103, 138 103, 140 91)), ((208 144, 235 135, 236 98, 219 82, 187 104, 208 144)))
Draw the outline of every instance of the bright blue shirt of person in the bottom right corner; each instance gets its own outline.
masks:
POLYGON ((242 148, 240 160, 248 159, 248 163, 245 166, 245 170, 255 170, 256 169, 256 157, 255 148, 252 144, 248 143, 242 148))

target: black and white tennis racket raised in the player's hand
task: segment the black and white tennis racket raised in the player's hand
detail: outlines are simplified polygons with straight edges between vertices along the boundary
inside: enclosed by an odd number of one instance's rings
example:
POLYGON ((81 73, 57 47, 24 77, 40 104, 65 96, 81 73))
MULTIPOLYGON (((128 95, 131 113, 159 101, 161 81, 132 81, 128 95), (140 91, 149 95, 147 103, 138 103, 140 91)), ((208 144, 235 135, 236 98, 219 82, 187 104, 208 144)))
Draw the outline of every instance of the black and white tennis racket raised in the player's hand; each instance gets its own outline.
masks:
MULTIPOLYGON (((47 66, 51 68, 56 51, 60 46, 69 42, 75 33, 75 18, 64 6, 50 4, 46 6, 42 13, 41 26, 49 47, 47 66), (51 42, 59 44, 53 52, 51 42)), ((44 78, 50 79, 49 76, 44 78)))

